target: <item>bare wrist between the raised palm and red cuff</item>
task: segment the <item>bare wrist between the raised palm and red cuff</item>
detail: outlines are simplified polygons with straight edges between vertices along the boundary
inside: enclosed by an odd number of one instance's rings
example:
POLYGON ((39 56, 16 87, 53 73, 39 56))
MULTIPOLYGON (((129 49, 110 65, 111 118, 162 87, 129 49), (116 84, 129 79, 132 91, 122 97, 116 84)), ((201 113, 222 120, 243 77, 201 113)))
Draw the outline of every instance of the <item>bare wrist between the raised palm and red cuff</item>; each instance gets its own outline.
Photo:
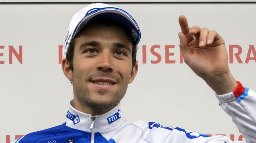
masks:
POLYGON ((211 89, 219 95, 232 92, 237 87, 237 81, 233 78, 230 72, 209 78, 205 81, 211 89))

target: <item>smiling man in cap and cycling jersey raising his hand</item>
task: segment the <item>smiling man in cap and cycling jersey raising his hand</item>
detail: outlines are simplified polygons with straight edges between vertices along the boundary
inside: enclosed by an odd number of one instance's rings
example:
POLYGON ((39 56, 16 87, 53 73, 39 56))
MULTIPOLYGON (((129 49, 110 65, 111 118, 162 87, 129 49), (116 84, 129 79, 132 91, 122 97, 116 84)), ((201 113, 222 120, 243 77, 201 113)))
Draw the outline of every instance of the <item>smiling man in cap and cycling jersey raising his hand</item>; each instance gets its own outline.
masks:
MULTIPOLYGON (((255 143, 256 94, 230 74, 223 38, 206 28, 189 28, 184 16, 179 22, 184 61, 216 92, 221 107, 233 118, 247 143, 255 143)), ((122 119, 120 100, 138 70, 139 39, 135 20, 117 7, 91 4, 75 14, 62 61, 74 91, 67 121, 13 143, 232 143, 224 136, 208 137, 159 123, 122 119)))

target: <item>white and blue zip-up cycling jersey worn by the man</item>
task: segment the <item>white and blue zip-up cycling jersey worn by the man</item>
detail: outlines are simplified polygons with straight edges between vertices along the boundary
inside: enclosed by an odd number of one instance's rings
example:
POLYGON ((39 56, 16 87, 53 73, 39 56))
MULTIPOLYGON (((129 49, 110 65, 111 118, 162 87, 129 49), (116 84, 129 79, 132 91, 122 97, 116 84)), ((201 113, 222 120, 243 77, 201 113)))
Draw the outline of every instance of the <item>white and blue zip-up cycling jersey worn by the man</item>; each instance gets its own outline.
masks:
MULTIPOLYGON (((239 83, 233 92, 216 96, 247 143, 256 143, 256 94, 239 83)), ((91 116, 74 109, 70 101, 66 119, 62 125, 27 134, 13 143, 245 143, 155 122, 129 122, 122 118, 120 104, 91 116)))

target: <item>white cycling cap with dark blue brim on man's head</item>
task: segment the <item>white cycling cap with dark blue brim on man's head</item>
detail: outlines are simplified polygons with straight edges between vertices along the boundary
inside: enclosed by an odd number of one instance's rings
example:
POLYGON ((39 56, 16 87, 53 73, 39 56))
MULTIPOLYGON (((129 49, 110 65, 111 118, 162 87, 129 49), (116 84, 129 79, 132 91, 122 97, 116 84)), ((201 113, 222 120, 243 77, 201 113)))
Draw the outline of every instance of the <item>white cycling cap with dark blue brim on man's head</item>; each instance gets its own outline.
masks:
POLYGON ((65 38, 65 43, 63 45, 63 58, 66 57, 69 43, 71 42, 72 38, 74 38, 74 36, 76 36, 76 34, 79 33, 83 27, 85 27, 89 20, 101 17, 107 17, 113 19, 115 22, 119 22, 119 24, 121 24, 122 27, 131 34, 135 45, 139 43, 141 38, 139 26, 129 13, 118 7, 113 7, 107 4, 90 4, 78 11, 78 13, 74 14, 72 17, 67 32, 67 37, 65 38))

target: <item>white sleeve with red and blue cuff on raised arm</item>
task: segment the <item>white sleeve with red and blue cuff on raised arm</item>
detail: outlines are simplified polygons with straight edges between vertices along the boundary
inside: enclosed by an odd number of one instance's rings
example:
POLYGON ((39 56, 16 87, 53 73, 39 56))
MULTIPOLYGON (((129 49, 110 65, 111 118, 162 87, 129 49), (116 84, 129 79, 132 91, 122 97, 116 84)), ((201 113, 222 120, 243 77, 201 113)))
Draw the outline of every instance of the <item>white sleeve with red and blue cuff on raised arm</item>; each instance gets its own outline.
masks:
POLYGON ((256 143, 256 94, 239 81, 234 91, 217 95, 221 108, 232 117, 247 143, 256 143))

